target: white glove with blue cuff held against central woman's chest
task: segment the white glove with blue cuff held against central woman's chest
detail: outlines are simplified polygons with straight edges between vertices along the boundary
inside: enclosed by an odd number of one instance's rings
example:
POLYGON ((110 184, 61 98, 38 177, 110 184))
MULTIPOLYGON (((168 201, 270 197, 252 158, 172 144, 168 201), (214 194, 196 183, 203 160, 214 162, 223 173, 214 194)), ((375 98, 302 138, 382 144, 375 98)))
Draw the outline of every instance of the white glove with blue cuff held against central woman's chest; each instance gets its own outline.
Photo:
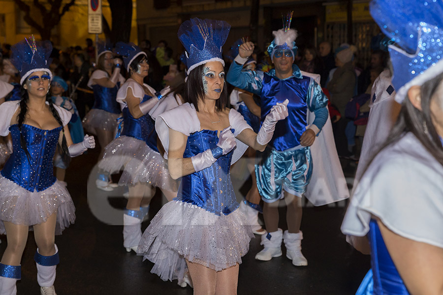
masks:
POLYGON ((237 146, 231 126, 224 128, 220 132, 219 143, 216 148, 207 150, 191 157, 192 166, 195 172, 203 170, 214 164, 218 158, 227 154, 237 146))

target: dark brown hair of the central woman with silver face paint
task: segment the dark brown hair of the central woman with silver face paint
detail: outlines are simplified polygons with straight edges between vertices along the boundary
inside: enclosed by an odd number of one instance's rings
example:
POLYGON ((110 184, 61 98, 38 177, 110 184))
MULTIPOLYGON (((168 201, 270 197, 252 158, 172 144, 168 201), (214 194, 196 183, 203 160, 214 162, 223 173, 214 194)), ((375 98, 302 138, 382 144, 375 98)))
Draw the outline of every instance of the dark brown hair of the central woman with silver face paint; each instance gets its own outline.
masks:
MULTIPOLYGON (((195 110, 198 112, 198 100, 204 99, 205 90, 203 88, 203 80, 202 73, 205 64, 200 64, 199 66, 192 69, 188 76, 188 82, 186 82, 185 86, 185 101, 189 102, 195 107, 195 110)), ((228 106, 228 97, 227 97, 227 89, 226 89, 226 81, 223 85, 223 90, 221 91, 220 98, 216 101, 216 110, 222 111, 224 108, 228 106)))

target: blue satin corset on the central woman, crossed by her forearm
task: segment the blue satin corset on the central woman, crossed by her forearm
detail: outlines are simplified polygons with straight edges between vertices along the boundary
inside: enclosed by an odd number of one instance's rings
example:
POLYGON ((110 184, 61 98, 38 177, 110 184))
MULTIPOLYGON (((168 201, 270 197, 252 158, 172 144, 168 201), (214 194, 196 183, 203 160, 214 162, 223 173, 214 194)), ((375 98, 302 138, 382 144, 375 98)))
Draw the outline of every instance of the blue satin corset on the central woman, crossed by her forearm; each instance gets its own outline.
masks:
MULTIPOLYGON (((217 131, 201 130, 188 137, 184 158, 195 156, 219 142, 217 131)), ((234 211, 239 204, 235 199, 229 170, 232 151, 221 156, 211 167, 182 177, 174 200, 191 203, 221 216, 234 211)))

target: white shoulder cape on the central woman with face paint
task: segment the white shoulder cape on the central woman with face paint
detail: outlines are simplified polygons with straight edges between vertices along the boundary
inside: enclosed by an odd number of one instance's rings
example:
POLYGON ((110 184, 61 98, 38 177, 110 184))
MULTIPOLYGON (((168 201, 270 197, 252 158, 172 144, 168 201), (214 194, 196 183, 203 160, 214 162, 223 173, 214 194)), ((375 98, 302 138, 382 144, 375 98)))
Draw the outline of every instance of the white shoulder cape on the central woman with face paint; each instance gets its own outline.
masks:
MULTIPOLYGON (((229 123, 234 129, 234 136, 239 135, 243 130, 251 126, 246 123, 243 116, 236 110, 229 111, 229 123)), ((191 133, 200 131, 200 121, 195 108, 189 103, 184 103, 172 110, 158 116, 156 120, 156 131, 161 144, 164 147, 164 157, 167 159, 169 150, 169 128, 190 136, 191 133)), ((232 155, 231 165, 234 164, 246 151, 247 145, 236 139, 237 147, 232 155)))

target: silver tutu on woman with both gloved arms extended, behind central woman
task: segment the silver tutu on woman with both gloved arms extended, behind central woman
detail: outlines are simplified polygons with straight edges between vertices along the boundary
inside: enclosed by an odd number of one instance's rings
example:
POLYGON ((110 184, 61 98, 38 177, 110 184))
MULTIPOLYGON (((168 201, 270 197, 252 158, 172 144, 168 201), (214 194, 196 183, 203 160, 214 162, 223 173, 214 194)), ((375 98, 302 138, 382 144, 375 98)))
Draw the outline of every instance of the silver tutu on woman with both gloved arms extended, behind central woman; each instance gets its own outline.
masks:
POLYGON ((106 146, 98 167, 110 174, 123 168, 119 185, 145 182, 155 187, 176 191, 177 181, 169 176, 167 162, 144 141, 122 135, 106 146))

